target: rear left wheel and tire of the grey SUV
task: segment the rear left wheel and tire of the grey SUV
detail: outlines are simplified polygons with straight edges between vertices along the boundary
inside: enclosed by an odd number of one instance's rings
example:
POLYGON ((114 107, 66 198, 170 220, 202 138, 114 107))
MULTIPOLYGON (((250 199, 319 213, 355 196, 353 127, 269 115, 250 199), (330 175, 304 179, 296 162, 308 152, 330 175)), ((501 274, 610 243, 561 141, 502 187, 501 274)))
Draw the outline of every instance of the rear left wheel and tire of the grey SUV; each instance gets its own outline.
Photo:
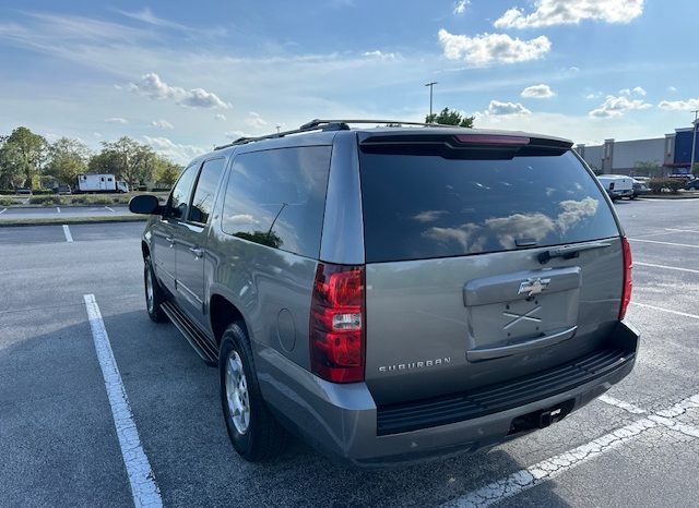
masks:
POLYGON ((233 323, 223 335, 218 373, 223 415, 233 447, 249 462, 279 456, 286 447, 288 435, 262 399, 242 322, 233 323))

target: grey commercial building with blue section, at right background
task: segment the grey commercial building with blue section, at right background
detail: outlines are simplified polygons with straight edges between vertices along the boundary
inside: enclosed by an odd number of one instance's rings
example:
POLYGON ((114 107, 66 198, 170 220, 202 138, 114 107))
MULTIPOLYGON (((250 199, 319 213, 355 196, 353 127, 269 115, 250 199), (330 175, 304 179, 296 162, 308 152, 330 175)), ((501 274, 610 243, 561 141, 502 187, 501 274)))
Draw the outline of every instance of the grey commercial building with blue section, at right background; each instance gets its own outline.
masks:
MULTIPOLYGON (((603 145, 587 146, 579 144, 576 152, 585 159, 592 169, 605 174, 644 174, 639 166, 655 165, 663 174, 689 173, 691 160, 691 128, 675 129, 672 134, 650 140, 615 141, 604 140, 603 145)), ((695 136, 699 132, 695 133, 695 136)), ((697 138, 699 159, 699 137, 697 138)))

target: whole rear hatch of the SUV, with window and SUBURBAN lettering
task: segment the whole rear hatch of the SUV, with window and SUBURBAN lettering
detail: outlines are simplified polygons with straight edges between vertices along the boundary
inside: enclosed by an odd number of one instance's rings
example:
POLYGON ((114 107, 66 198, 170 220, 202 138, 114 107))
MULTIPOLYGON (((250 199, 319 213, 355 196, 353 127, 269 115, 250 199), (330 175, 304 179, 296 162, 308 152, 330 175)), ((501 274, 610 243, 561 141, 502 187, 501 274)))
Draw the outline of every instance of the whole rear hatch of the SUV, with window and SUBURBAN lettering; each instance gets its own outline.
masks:
POLYGON ((498 385, 603 347, 621 241, 569 143, 359 134, 359 162, 377 404, 498 385))

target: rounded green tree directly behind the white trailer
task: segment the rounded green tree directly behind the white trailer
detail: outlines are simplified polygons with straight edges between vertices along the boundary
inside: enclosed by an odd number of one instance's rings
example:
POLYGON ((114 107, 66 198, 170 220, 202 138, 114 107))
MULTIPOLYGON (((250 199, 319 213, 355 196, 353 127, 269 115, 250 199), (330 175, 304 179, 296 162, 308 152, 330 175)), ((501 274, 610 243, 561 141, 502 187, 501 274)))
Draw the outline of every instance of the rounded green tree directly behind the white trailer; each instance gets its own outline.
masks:
POLYGON ((100 171, 114 173, 117 179, 126 180, 130 188, 151 179, 155 153, 147 145, 142 145, 128 136, 112 142, 103 142, 102 153, 90 161, 91 171, 95 166, 100 171))

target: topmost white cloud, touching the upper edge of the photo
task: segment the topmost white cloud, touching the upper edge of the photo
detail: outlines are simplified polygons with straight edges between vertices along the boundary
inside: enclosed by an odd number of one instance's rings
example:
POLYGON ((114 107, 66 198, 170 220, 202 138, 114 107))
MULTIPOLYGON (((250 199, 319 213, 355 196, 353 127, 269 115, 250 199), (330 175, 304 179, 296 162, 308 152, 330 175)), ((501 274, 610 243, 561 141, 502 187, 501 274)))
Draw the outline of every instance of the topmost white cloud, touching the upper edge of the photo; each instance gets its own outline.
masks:
POLYGON ((498 28, 536 28, 577 25, 584 20, 630 23, 643 13, 643 0, 535 0, 535 10, 508 9, 496 22, 498 28))

